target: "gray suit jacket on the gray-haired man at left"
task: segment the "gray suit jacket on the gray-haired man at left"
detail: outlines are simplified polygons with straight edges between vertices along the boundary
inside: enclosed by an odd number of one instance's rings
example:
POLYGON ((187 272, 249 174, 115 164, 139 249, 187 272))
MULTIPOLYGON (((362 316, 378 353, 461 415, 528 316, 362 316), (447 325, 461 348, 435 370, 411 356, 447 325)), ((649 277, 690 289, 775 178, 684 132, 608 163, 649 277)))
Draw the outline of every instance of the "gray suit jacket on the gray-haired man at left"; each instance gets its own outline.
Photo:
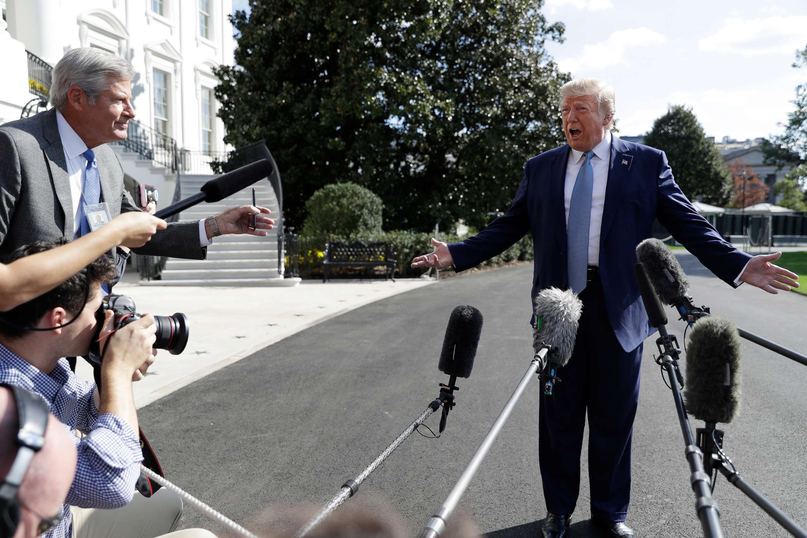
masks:
MULTIPOLYGON (((93 148, 101 177, 101 199, 114 219, 140 211, 123 188, 123 169, 107 145, 93 148)), ((0 257, 40 240, 73 239, 73 202, 56 111, 0 126, 0 257)), ((137 254, 204 260, 199 222, 170 223, 137 254)))

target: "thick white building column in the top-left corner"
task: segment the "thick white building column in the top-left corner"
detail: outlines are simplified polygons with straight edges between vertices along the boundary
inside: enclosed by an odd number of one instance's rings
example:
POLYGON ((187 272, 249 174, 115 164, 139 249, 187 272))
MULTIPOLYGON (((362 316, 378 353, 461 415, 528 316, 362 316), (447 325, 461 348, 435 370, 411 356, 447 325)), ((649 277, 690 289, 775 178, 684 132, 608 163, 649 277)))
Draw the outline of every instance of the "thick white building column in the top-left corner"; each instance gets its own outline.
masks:
POLYGON ((26 50, 50 65, 64 56, 61 29, 65 21, 61 20, 59 0, 8 0, 6 17, 10 34, 22 41, 26 50))

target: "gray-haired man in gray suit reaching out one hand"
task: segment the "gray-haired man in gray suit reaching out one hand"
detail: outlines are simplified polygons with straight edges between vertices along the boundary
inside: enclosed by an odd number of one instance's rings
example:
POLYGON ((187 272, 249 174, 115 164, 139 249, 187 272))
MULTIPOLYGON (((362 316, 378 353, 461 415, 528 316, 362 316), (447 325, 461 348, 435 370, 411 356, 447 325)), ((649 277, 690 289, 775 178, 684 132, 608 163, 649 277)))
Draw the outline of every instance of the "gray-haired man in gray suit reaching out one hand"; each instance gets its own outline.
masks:
MULTIPOLYGON (((141 211, 123 188, 123 170, 110 142, 125 140, 134 70, 98 48, 74 48, 53 69, 52 110, 0 126, 0 256, 20 246, 60 237, 77 239, 94 229, 90 213, 141 211)), ((170 223, 138 254, 202 260, 214 236, 266 236, 274 221, 249 214, 265 207, 232 207, 191 222, 170 223)), ((128 253, 119 249, 119 256, 128 253)))

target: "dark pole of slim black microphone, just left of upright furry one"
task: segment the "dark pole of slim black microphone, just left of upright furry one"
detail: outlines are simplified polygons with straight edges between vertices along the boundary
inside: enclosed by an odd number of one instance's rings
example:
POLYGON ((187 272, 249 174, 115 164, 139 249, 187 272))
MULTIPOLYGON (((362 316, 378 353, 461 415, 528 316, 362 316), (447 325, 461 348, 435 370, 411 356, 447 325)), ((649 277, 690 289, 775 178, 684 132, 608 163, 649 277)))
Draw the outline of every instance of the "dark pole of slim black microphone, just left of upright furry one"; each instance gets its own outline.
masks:
POLYGON ((703 453, 697 447, 692 438, 692 429, 689 426, 687 411, 684 409, 684 399, 681 398, 681 386, 684 385, 684 378, 678 367, 678 340, 675 336, 667 334, 667 327, 659 325, 659 338, 656 345, 659 347, 659 357, 655 358, 656 364, 667 370, 667 378, 670 380, 672 398, 675 400, 675 411, 678 412, 678 422, 681 425, 681 432, 684 434, 684 453, 689 462, 689 470, 692 475, 689 478, 692 484, 692 491, 697 498, 696 511, 700 519, 700 527, 703 528, 705 538, 722 538, 723 529, 720 525, 720 512, 717 511, 717 504, 712 498, 712 479, 704 471, 703 453))

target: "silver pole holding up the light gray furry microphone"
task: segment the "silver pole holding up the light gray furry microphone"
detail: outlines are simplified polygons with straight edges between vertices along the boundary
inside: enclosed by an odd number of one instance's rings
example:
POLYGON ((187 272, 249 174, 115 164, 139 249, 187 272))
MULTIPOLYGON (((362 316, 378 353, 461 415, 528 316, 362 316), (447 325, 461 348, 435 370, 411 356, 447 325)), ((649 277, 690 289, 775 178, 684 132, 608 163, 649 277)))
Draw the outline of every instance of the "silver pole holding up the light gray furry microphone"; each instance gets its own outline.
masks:
MULTIPOLYGON (((532 381, 533 373, 540 374, 546 368, 546 355, 549 352, 550 347, 545 344, 544 347, 535 354, 533 361, 529 363, 529 368, 524 374, 524 377, 521 377, 521 382, 518 383, 518 386, 516 386, 516 390, 513 391, 512 396, 510 396, 510 399, 508 399, 507 403, 504 404, 504 409, 502 409, 498 418, 496 418, 495 422, 493 423, 493 426, 491 426, 491 429, 487 432, 487 435, 482 440, 482 444, 480 444, 479 448, 476 450, 474 457, 471 458, 468 466, 464 471, 462 471, 462 475, 454 485, 454 489, 451 490, 448 498, 445 499, 445 503, 443 503, 442 506, 437 509, 432 518, 429 519, 429 522, 426 523, 423 530, 420 531, 419 538, 437 538, 438 536, 441 536, 443 531, 445 531, 445 525, 448 522, 449 517, 451 517, 451 514, 454 512, 454 508, 457 507, 462 494, 464 494, 465 490, 468 488, 470 479, 474 478, 476 471, 479 469, 479 465, 487 455, 487 451, 490 450, 496 436, 499 435, 504 423, 507 422, 513 407, 516 407, 516 402, 518 402, 519 398, 521 398, 521 394, 524 393, 524 390, 527 388, 527 385, 529 385, 529 382, 532 381)), ((555 379, 557 379, 557 377, 555 377, 555 379)), ((559 379, 557 380, 559 381, 559 379)))

